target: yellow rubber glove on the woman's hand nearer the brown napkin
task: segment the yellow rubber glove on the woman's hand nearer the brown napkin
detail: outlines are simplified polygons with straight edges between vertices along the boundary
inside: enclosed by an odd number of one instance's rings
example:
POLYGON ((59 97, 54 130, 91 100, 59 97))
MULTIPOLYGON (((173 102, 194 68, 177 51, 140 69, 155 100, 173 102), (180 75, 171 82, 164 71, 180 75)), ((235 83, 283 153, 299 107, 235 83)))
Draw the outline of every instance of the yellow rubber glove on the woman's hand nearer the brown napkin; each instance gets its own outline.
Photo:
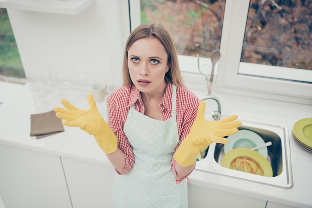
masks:
POLYGON ((106 154, 113 153, 117 149, 118 138, 99 113, 93 96, 88 94, 87 98, 90 105, 88 110, 81 110, 66 100, 61 100, 67 109, 55 107, 56 117, 64 119, 62 123, 65 126, 79 127, 93 135, 106 154))

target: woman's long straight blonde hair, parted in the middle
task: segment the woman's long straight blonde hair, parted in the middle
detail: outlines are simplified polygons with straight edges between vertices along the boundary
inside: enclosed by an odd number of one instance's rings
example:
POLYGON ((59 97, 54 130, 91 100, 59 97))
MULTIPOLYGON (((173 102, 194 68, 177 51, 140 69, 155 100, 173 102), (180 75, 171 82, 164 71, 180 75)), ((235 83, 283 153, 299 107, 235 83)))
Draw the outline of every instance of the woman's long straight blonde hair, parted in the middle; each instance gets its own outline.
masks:
POLYGON ((155 37, 163 45, 164 49, 168 55, 168 66, 169 70, 165 74, 165 82, 173 83, 176 86, 184 86, 182 75, 180 72, 176 49, 173 43, 173 40, 169 32, 160 24, 157 23, 145 23, 138 26, 129 36, 124 53, 124 62, 123 62, 123 79, 124 85, 131 86, 133 82, 130 78, 129 69, 128 69, 128 51, 130 47, 141 38, 155 37))

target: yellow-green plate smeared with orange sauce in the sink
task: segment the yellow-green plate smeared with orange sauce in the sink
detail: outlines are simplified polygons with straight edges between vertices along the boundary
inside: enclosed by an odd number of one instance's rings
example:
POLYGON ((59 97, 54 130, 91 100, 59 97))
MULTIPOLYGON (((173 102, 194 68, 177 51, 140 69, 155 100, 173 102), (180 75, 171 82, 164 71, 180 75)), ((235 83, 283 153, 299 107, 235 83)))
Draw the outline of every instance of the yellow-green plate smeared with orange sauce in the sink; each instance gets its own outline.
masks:
POLYGON ((259 152, 248 148, 236 148, 224 155, 221 166, 260 176, 273 177, 269 161, 259 152))

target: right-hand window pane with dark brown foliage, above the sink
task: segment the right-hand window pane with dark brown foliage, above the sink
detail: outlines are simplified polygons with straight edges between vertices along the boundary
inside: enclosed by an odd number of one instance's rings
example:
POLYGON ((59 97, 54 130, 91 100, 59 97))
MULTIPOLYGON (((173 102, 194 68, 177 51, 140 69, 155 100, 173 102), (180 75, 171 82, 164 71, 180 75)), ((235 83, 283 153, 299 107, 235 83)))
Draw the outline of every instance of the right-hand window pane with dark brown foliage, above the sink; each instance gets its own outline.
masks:
POLYGON ((250 0, 241 62, 257 65, 239 73, 312 83, 311 11, 306 0, 250 0))

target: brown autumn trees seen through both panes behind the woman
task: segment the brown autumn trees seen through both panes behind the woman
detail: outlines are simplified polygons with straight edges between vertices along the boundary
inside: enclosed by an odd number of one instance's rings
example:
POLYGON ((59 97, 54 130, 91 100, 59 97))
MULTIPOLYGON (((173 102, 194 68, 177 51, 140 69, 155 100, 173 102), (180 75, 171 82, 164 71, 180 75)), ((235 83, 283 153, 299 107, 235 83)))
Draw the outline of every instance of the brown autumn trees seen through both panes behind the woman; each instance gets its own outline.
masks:
MULTIPOLYGON (((179 55, 220 49, 225 0, 141 0, 141 23, 158 22, 179 55)), ((312 70, 312 1, 250 0, 241 62, 312 70)))

